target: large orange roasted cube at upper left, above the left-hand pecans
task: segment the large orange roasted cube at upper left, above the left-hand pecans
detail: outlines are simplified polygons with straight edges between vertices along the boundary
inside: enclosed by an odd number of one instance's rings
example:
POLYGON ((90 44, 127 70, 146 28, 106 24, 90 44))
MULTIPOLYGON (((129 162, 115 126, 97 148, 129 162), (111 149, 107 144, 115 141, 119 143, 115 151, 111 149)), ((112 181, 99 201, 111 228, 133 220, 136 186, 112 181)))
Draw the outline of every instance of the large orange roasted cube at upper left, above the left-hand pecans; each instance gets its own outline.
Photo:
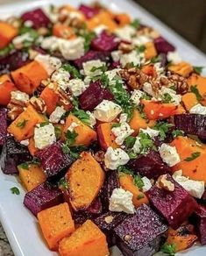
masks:
POLYGON ((38 61, 33 60, 29 64, 11 72, 11 76, 17 88, 32 95, 40 82, 48 78, 48 74, 38 61))

